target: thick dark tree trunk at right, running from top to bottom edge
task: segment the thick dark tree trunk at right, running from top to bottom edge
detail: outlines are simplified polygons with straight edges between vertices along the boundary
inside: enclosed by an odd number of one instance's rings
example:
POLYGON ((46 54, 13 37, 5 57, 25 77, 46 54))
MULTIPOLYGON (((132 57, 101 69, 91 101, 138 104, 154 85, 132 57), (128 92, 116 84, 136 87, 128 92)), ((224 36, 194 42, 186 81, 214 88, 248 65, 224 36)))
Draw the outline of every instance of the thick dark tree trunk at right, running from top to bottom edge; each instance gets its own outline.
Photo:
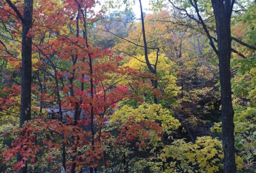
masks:
POLYGON ((224 172, 235 173, 234 110, 231 98, 231 11, 230 0, 212 0, 218 36, 218 58, 221 85, 222 145, 224 151, 224 172))

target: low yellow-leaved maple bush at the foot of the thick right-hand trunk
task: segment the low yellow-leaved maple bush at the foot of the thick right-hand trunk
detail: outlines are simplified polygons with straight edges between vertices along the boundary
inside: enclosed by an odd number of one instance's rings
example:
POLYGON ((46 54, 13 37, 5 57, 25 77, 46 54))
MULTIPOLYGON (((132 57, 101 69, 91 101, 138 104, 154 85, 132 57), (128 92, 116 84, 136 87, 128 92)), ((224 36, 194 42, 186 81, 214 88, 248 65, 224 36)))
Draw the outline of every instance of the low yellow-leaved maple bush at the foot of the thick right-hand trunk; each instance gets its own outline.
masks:
MULTIPOLYGON (((164 146, 159 155, 166 162, 166 173, 221 171, 223 157, 221 141, 210 136, 198 137, 195 143, 177 139, 172 145, 164 146)), ((242 162, 240 157, 236 157, 237 169, 243 167, 242 162)))

